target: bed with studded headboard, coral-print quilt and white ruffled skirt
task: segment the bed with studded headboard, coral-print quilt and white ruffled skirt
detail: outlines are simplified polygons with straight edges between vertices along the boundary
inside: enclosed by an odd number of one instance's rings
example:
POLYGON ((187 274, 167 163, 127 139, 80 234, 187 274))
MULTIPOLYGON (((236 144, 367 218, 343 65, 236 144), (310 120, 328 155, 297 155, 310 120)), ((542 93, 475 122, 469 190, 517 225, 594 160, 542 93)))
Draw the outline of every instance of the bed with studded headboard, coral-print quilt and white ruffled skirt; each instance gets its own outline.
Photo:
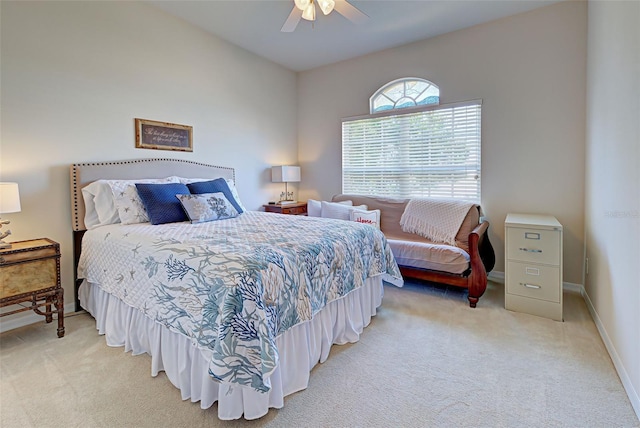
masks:
MULTIPOLYGON (((217 402, 220 419, 256 419, 305 389, 332 344, 357 342, 383 281, 401 286, 402 277, 384 235, 368 225, 248 211, 239 198, 237 211, 229 207, 236 215, 217 221, 152 224, 145 205, 151 223, 125 221, 128 210, 120 222, 100 222, 82 193, 105 180, 212 179, 238 198, 232 168, 176 159, 72 165, 76 304, 109 346, 149 354, 152 376, 165 371, 183 400, 217 402)), ((109 183, 114 198, 125 196, 109 183)))

